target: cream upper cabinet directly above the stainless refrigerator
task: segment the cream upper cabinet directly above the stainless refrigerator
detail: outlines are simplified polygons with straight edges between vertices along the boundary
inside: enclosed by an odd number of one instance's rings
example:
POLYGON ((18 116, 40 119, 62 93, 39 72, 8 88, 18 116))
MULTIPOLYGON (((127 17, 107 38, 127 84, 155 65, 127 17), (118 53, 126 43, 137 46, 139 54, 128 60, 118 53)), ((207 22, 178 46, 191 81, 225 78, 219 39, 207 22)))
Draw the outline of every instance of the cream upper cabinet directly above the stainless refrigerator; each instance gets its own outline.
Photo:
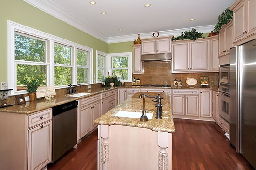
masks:
POLYGON ((233 41, 241 45, 256 39, 256 1, 237 0, 231 7, 233 11, 233 41))

